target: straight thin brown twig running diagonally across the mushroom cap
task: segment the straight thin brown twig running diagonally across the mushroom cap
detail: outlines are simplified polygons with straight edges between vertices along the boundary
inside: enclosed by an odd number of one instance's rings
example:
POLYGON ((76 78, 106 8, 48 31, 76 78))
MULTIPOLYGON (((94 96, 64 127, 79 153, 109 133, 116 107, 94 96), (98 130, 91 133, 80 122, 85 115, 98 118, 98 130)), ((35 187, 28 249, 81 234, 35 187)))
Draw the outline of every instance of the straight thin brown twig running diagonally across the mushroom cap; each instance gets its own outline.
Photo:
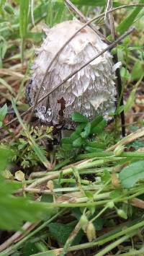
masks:
MULTIPOLYGON (((89 21, 90 22, 90 21, 89 21)), ((88 22, 87 22, 88 24, 88 22)), ((83 26, 86 27, 86 24, 83 26)), ((82 29, 82 28, 81 28, 82 29)), ((81 30, 80 29, 80 30, 81 30)), ((79 30, 79 31, 80 31, 79 30)), ((125 37, 127 37, 127 35, 130 35, 131 32, 133 32, 135 30, 134 27, 131 27, 130 30, 127 30, 127 32, 125 32, 123 35, 121 35, 119 38, 117 38, 117 40, 115 40, 113 43, 111 43, 109 46, 107 46, 107 48, 105 48, 104 50, 102 50, 100 53, 96 54, 93 58, 91 58, 89 61, 87 61, 86 63, 84 63, 83 66, 81 66, 79 69, 77 69, 76 71, 73 71, 73 73, 71 73, 70 75, 68 75, 66 77, 66 79, 63 79, 63 81, 60 82, 60 84, 58 84, 55 88, 51 89, 50 92, 48 92, 47 94, 45 94, 45 96, 43 96, 42 98, 40 98, 40 100, 37 101, 37 103, 40 103, 42 100, 44 100, 46 97, 48 97, 52 92, 55 91, 55 89, 58 89, 58 87, 60 87, 62 84, 64 84, 68 79, 70 79, 72 76, 74 76, 76 73, 78 73, 78 71, 80 71, 81 69, 84 69, 84 67, 86 67, 87 65, 89 65, 89 63, 91 63, 92 61, 94 61, 96 58, 98 58, 99 56, 101 56, 102 54, 104 54, 107 50, 112 50, 112 48, 115 47, 115 45, 117 45, 117 43, 120 43, 120 41, 122 41, 125 37)), ((50 65, 49 65, 50 66, 50 65)), ((45 76, 44 76, 45 77, 45 76)), ((24 112, 21 117, 23 117, 24 115, 26 115, 28 112, 30 112, 30 110, 32 110, 34 106, 30 107, 29 110, 27 110, 26 112, 24 112)), ((10 125, 12 123, 14 123, 17 120, 17 118, 14 118, 12 121, 10 121, 9 123, 7 123, 5 126, 10 125)), ((1 129, 1 128, 0 128, 1 129)))

